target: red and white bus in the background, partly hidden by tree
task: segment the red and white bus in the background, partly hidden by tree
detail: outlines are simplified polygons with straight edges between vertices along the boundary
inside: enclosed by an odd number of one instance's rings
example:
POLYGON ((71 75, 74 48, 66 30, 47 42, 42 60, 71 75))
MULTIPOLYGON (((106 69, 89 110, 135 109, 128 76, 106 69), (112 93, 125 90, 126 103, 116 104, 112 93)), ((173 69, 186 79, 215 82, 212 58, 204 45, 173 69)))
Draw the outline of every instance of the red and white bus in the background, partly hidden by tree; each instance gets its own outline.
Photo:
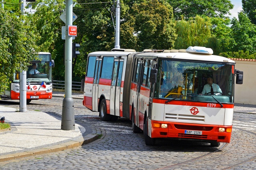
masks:
MULTIPOLYGON (((30 103, 31 100, 51 99, 52 98, 52 68, 54 60, 51 53, 39 52, 38 56, 32 61, 32 65, 36 65, 37 72, 30 74, 33 66, 29 66, 26 72, 26 100, 30 103)), ((0 95, 4 100, 20 100, 20 71, 13 73, 10 78, 11 83, 3 95, 0 95)))

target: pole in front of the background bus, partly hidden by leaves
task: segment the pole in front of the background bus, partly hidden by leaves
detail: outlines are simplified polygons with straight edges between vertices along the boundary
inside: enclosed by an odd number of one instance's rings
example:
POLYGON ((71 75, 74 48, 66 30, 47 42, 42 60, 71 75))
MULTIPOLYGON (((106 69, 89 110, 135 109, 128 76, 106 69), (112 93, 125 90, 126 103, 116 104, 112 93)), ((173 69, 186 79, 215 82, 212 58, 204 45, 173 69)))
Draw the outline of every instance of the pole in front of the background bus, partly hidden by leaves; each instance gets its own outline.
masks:
MULTIPOLYGON (((24 15, 26 9, 26 0, 23 0, 21 3, 21 14, 24 15)), ((25 22, 24 20, 22 21, 25 22)), ((20 112, 26 112, 27 111, 27 72, 26 70, 20 71, 20 112)))

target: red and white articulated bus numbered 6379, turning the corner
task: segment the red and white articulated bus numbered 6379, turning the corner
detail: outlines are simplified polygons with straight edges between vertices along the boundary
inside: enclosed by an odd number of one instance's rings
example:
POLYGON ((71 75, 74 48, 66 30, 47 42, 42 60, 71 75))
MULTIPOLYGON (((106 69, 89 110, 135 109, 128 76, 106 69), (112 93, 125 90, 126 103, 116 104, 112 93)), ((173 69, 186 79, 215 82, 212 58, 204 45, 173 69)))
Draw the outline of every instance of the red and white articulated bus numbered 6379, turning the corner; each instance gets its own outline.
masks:
POLYGON ((129 118, 146 145, 157 138, 230 143, 234 82, 242 84, 243 72, 212 54, 205 47, 89 53, 83 105, 102 121, 129 118))

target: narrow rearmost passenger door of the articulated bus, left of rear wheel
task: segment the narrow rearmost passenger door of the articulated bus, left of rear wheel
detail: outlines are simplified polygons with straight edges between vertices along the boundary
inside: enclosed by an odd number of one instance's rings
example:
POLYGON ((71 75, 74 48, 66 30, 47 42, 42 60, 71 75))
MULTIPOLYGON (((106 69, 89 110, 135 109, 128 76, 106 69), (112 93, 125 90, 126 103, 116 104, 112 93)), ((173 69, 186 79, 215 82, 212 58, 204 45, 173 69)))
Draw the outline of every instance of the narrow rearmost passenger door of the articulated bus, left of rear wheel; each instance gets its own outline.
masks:
POLYGON ((92 110, 98 111, 98 90, 100 79, 100 68, 102 59, 96 59, 95 74, 92 87, 92 110))

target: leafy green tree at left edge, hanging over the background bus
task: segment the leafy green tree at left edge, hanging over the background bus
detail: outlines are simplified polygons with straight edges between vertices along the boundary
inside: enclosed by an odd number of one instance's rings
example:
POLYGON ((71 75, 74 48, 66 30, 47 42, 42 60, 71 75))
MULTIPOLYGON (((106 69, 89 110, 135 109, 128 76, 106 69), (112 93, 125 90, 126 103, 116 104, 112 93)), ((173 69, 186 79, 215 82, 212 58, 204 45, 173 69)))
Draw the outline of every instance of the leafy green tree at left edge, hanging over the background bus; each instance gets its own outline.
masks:
POLYGON ((38 48, 33 25, 20 13, 10 13, 0 8, 0 94, 7 88, 14 72, 26 70, 38 48))

